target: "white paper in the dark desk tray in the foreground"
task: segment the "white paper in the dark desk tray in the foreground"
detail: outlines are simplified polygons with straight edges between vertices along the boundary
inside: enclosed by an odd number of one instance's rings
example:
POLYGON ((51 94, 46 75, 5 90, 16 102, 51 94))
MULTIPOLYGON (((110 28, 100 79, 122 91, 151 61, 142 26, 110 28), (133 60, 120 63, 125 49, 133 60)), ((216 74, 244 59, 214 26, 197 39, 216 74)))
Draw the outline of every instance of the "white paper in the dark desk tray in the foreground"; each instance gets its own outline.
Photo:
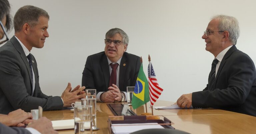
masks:
POLYGON ((129 134, 135 131, 150 129, 150 128, 164 128, 158 123, 133 123, 133 124, 112 124, 111 126, 114 134, 129 134))

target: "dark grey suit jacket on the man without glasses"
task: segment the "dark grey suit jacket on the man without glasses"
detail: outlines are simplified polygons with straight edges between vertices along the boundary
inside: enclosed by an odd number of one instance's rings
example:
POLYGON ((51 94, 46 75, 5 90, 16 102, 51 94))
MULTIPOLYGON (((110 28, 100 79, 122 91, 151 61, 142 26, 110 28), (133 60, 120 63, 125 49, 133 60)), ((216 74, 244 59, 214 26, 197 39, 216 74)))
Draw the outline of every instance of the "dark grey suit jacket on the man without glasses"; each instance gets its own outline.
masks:
POLYGON ((47 96, 39 86, 37 63, 32 55, 32 67, 35 74, 35 90, 31 96, 32 76, 27 57, 21 44, 13 36, 0 48, 0 113, 21 108, 30 112, 31 109, 60 110, 63 102, 59 96, 47 96))

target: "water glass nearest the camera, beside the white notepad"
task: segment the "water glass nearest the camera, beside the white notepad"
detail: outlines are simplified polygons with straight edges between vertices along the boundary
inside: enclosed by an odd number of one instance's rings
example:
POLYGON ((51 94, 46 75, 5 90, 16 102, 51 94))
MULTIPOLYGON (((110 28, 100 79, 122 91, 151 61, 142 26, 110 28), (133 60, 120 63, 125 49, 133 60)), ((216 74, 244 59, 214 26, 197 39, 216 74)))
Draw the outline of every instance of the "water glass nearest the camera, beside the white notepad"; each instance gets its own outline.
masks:
POLYGON ((92 106, 74 107, 75 134, 92 134, 92 106))

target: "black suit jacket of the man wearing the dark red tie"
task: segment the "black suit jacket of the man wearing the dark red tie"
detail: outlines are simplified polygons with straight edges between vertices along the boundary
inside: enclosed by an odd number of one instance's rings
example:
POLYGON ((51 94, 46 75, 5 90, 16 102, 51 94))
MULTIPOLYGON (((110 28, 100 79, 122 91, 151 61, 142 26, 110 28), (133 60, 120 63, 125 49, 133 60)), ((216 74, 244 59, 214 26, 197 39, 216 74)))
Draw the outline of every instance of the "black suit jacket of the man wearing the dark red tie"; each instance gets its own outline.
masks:
MULTIPOLYGON (((124 53, 119 69, 119 89, 126 92, 127 86, 135 86, 140 68, 140 57, 124 53)), ((82 86, 96 89, 98 92, 108 91, 110 72, 105 52, 87 57, 83 71, 82 86)))

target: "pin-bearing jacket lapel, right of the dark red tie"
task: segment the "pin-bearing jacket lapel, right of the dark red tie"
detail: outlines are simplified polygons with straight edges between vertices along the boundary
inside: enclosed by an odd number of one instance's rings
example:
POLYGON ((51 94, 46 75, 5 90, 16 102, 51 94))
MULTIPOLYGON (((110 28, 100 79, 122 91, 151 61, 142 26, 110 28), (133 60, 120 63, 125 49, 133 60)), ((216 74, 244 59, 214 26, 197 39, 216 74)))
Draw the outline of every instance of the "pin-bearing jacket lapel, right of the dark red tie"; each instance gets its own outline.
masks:
POLYGON ((126 53, 124 53, 121 62, 120 62, 120 68, 119 68, 119 89, 123 88, 124 85, 124 76, 125 76, 125 71, 127 67, 127 58, 126 58, 126 53))

